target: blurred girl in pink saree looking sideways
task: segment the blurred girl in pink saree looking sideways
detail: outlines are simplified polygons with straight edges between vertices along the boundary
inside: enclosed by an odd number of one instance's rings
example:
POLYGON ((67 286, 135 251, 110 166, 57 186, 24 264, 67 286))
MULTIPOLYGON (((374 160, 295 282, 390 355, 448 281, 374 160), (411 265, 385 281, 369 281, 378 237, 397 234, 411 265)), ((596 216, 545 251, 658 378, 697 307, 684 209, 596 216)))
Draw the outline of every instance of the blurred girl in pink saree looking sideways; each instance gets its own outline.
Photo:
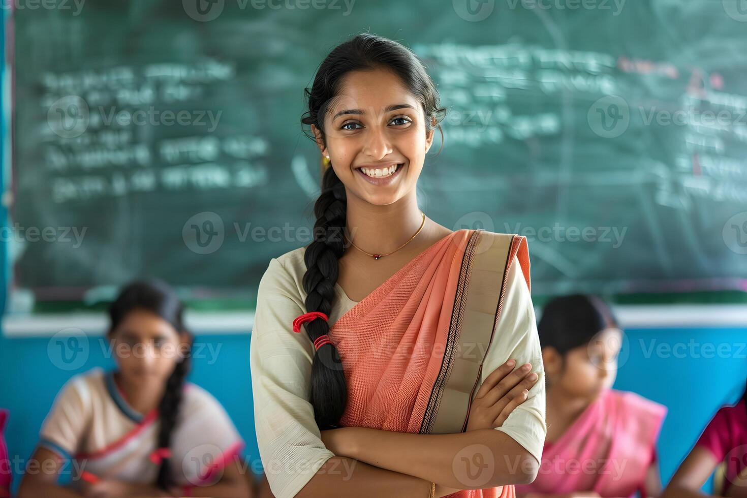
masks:
POLYGON ((666 407, 611 389, 622 331, 596 296, 556 298, 539 327, 548 435, 537 479, 524 497, 657 496, 656 441, 666 407))

